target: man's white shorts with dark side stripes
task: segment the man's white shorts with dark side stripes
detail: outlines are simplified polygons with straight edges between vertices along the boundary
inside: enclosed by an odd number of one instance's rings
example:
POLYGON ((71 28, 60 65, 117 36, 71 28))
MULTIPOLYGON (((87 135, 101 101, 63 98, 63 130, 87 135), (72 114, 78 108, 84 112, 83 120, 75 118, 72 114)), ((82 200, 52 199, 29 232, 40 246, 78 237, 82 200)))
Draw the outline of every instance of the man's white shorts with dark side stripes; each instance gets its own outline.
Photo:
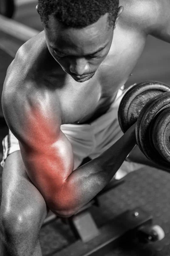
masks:
MULTIPOLYGON (((128 88, 129 89, 129 88, 128 88)), ((82 163, 86 157, 94 159, 111 147, 123 132, 119 126, 118 108, 123 95, 127 90, 124 86, 118 90, 115 101, 109 110, 90 124, 66 124, 61 125, 61 130, 71 142, 74 152, 74 169, 82 163)), ((7 156, 20 150, 17 138, 9 130, 9 134, 3 139, 3 160, 0 163, 4 167, 7 156)), ((116 179, 125 176, 128 172, 140 169, 142 165, 132 162, 122 164, 116 179)))

